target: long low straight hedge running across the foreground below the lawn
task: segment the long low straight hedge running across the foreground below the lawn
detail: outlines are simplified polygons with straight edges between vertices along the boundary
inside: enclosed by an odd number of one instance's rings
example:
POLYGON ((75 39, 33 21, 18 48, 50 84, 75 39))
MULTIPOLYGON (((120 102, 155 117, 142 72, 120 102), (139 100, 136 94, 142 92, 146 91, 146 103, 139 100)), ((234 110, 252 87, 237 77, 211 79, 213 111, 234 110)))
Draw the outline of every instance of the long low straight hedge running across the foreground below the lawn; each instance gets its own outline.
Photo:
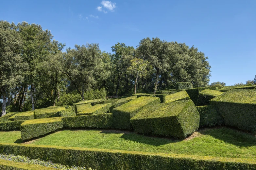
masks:
POLYGON ((53 163, 91 167, 97 170, 252 170, 256 160, 198 155, 150 153, 125 150, 40 146, 30 144, 0 144, 0 153, 27 156, 30 159, 51 160, 53 163))

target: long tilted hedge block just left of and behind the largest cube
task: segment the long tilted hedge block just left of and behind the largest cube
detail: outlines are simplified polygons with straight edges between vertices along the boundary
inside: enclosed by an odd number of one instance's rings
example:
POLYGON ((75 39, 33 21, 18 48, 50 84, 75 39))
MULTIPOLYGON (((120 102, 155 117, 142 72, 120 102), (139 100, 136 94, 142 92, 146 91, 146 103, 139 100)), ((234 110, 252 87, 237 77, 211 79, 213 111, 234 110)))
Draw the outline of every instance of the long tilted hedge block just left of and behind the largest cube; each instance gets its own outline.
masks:
POLYGON ((143 107, 148 105, 159 104, 158 97, 139 97, 126 104, 113 109, 113 126, 117 129, 132 129, 130 119, 135 116, 143 107))

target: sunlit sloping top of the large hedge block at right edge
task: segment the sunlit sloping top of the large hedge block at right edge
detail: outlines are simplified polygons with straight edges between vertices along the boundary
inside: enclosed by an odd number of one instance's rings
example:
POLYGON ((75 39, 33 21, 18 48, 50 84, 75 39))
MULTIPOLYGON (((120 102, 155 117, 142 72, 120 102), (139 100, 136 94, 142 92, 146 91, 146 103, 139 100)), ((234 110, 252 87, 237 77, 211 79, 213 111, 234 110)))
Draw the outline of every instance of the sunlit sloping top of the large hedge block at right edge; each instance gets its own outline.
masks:
POLYGON ((223 93, 213 99, 213 102, 229 102, 240 104, 256 105, 256 90, 251 89, 235 89, 223 93))

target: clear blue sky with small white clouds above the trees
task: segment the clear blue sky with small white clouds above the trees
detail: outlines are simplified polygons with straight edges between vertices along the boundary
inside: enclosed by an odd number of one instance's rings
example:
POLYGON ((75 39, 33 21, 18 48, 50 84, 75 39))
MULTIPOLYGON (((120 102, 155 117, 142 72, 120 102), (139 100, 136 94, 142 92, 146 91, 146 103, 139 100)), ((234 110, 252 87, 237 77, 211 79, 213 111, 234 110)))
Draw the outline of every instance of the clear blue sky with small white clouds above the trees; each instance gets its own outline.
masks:
POLYGON ((256 1, 3 1, 0 20, 27 21, 51 30, 54 39, 136 47, 145 37, 185 42, 209 57, 211 82, 226 85, 256 75, 256 1))

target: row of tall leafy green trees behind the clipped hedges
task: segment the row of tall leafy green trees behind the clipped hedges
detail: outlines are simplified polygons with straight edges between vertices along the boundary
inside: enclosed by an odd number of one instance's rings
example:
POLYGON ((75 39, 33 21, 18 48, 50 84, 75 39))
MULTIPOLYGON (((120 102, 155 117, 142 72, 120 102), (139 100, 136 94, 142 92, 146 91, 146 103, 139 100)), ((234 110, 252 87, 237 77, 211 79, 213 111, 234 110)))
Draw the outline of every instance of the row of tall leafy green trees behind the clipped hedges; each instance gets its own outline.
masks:
POLYGON ((172 89, 177 82, 209 84, 208 57, 194 46, 146 37, 101 51, 98 44, 53 39, 41 25, 0 21, 0 96, 7 111, 34 110, 79 100, 172 89))

